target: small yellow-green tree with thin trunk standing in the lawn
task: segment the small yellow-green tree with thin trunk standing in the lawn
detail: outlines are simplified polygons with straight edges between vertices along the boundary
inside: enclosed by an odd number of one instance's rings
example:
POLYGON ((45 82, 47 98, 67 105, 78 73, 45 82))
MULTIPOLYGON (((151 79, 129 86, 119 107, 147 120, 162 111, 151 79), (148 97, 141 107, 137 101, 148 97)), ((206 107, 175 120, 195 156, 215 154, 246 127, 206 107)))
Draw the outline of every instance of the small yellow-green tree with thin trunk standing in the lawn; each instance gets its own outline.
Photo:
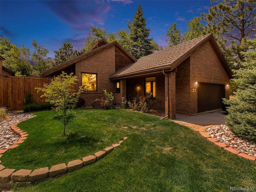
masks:
POLYGON ((63 135, 65 135, 66 125, 70 122, 74 115, 72 109, 76 106, 82 86, 79 87, 78 92, 74 89, 78 78, 70 73, 68 75, 62 72, 57 77, 54 77, 50 84, 44 84, 44 88, 36 88, 38 91, 44 92, 41 97, 45 97, 47 102, 54 104, 54 111, 60 118, 64 125, 63 135))

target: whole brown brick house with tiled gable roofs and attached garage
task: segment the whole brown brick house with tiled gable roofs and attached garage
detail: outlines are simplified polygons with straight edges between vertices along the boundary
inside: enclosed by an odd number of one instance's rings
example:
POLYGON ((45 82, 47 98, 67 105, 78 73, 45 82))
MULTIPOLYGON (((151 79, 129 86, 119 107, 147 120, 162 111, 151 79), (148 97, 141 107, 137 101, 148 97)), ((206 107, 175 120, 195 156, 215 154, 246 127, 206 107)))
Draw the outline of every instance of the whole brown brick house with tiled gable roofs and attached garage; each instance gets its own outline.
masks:
POLYGON ((222 98, 229 98, 232 72, 212 34, 136 60, 118 42, 98 41, 89 52, 43 72, 44 77, 61 71, 78 76, 86 105, 103 93, 114 92, 115 102, 121 96, 132 100, 139 92, 151 92, 159 99, 157 110, 176 118, 176 113, 196 114, 220 109, 222 98), (93 84, 93 85, 92 85, 93 84), (94 87, 94 88, 93 88, 94 87))

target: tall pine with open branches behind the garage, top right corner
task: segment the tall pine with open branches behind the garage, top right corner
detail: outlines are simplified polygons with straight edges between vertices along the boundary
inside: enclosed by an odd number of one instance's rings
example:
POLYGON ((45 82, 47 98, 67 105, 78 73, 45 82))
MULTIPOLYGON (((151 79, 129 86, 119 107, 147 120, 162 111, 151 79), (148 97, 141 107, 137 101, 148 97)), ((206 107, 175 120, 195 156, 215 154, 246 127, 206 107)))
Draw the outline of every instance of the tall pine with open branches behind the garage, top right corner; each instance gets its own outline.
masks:
POLYGON ((231 68, 240 67, 248 50, 246 38, 256 32, 256 1, 255 0, 211 0, 218 4, 210 7, 208 14, 201 16, 208 24, 208 32, 213 33, 231 68))

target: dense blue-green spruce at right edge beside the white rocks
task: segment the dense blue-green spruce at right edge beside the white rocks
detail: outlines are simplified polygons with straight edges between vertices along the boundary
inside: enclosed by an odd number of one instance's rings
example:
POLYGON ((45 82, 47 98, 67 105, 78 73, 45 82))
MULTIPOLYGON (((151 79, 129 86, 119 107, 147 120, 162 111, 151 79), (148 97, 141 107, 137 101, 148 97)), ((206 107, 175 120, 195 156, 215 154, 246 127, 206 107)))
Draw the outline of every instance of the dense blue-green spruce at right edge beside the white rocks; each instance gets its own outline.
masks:
POLYGON ((238 89, 233 100, 224 99, 227 108, 226 124, 234 133, 256 142, 256 38, 249 39, 247 52, 241 52, 242 68, 233 70, 238 89))

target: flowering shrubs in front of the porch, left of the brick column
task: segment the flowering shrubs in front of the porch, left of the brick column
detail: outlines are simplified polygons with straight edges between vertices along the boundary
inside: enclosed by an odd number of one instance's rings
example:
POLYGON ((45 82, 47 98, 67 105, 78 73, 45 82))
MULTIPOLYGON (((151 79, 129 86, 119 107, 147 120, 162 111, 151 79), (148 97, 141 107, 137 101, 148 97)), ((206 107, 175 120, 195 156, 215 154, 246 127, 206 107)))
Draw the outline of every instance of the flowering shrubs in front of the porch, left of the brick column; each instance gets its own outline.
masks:
POLYGON ((141 111, 142 113, 150 113, 159 115, 158 111, 154 109, 154 105, 156 103, 160 103, 160 100, 151 99, 152 93, 147 94, 146 96, 139 96, 137 94, 136 97, 134 97, 134 100, 128 101, 128 105, 132 110, 141 111))

